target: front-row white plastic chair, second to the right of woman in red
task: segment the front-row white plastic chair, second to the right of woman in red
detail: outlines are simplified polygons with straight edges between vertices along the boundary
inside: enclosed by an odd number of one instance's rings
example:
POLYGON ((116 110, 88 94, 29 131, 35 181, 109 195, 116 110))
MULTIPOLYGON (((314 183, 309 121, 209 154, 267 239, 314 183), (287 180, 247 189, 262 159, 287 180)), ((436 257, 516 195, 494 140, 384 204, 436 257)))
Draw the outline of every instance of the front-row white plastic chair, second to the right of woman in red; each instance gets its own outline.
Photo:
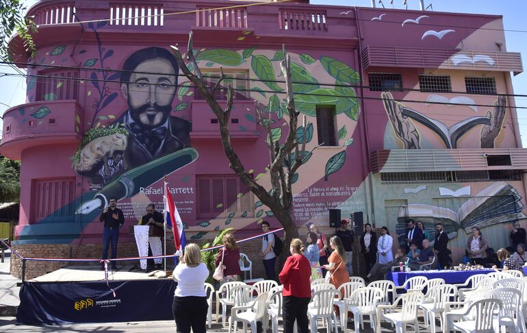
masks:
MULTIPOLYGON (((382 298, 383 291, 381 289, 369 286, 359 288, 351 293, 349 299, 346 300, 346 306, 347 310, 353 314, 355 333, 359 332, 359 324, 361 325, 361 330, 364 330, 363 317, 365 315, 370 317, 370 327, 375 330, 377 322, 377 304, 382 298)), ((344 325, 344 327, 346 326, 344 325)))

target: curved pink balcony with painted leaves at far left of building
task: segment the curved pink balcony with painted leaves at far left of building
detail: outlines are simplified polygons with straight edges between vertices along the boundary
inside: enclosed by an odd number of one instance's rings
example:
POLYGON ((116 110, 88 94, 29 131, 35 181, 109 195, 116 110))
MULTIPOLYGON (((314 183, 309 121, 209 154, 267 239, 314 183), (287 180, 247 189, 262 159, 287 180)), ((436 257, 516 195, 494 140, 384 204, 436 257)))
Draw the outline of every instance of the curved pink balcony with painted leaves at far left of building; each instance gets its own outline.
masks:
POLYGON ((75 99, 38 101, 10 108, 3 114, 0 153, 19 160, 27 147, 80 143, 83 112, 75 99))

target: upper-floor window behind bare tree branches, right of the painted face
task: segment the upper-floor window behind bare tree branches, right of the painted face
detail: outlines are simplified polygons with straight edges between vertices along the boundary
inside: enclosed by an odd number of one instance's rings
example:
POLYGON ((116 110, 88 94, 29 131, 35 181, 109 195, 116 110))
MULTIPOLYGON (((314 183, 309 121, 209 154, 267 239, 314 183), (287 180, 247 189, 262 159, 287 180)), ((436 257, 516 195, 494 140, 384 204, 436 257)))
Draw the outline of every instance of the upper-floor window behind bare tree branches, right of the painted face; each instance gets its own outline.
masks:
MULTIPOLYGON (((202 72, 202 75, 203 81, 209 88, 213 88, 220 78, 219 71, 202 72)), ((225 79, 216 89, 214 97, 218 100, 227 99, 228 87, 231 86, 234 89, 234 99, 249 99, 248 77, 247 71, 225 73, 225 79)), ((194 96, 196 99, 205 99, 198 88, 194 88, 194 96)))

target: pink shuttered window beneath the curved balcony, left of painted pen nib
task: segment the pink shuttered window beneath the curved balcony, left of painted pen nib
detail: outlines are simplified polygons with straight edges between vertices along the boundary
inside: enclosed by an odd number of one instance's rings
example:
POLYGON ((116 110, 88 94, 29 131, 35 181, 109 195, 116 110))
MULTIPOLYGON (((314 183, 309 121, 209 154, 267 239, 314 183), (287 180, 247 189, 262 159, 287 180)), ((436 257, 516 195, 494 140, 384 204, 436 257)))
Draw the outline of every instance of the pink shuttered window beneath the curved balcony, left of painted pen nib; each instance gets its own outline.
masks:
POLYGON ((73 219, 75 177, 55 180, 33 180, 33 219, 52 218, 56 221, 73 219))

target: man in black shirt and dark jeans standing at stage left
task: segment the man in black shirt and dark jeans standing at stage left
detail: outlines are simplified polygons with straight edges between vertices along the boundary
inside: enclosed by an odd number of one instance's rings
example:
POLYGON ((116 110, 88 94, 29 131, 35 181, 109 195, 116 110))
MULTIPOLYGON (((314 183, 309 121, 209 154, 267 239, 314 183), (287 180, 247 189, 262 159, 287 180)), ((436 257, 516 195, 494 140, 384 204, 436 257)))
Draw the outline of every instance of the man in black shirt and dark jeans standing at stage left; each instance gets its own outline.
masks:
MULTIPOLYGON (((103 260, 108 258, 108 248, 112 243, 112 259, 117 258, 117 242, 119 240, 119 229, 125 224, 125 215, 123 210, 117 208, 117 199, 110 198, 110 207, 104 208, 103 213, 99 217, 99 221, 104 222, 103 231, 103 260)), ((115 270, 116 262, 112 261, 112 270, 115 270)), ((101 269, 104 269, 102 265, 101 269)))

